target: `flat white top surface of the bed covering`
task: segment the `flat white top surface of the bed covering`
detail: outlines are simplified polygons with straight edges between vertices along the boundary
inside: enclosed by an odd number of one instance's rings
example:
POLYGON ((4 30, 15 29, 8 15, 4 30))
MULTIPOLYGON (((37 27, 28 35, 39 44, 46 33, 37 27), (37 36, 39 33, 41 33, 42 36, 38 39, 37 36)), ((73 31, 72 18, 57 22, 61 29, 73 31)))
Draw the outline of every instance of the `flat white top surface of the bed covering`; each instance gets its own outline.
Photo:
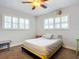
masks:
POLYGON ((40 46, 40 47, 48 47, 52 45, 52 47, 56 46, 59 42, 61 42, 60 39, 45 39, 45 38, 38 38, 38 39, 28 39, 25 40, 28 43, 40 46), (58 43, 57 43, 58 42, 58 43), (55 45, 56 44, 56 45, 55 45))

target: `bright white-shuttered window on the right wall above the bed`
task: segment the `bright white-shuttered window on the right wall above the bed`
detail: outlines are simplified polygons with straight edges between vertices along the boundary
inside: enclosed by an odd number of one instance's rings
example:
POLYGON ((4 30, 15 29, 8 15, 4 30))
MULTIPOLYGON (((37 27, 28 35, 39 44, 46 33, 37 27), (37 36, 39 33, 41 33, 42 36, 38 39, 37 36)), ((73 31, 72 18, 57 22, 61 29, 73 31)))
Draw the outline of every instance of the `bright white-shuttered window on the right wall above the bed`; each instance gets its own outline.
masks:
POLYGON ((45 19, 44 29, 68 29, 68 20, 68 16, 45 19))

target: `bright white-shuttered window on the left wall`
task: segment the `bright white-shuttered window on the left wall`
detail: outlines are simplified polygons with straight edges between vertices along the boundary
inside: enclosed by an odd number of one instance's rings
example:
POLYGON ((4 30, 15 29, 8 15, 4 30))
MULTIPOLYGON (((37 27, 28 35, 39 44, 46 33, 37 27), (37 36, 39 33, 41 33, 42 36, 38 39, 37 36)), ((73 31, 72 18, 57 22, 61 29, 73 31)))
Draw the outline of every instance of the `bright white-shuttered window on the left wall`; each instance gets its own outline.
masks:
POLYGON ((5 29, 29 29, 29 20, 11 16, 4 17, 5 29))

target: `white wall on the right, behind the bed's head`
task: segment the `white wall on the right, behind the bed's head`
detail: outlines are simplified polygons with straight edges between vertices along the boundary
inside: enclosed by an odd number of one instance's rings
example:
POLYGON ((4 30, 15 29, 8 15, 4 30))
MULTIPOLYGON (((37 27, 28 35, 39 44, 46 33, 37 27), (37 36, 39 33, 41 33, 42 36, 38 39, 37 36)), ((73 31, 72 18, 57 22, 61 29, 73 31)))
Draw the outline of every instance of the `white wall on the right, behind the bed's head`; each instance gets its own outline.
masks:
POLYGON ((70 18, 69 30, 44 30, 43 20, 46 18, 56 16, 55 12, 51 12, 49 14, 38 17, 37 34, 44 34, 44 33, 62 34, 65 47, 75 49, 76 48, 75 39, 79 35, 79 4, 63 8, 62 10, 63 10, 63 14, 68 15, 70 18))

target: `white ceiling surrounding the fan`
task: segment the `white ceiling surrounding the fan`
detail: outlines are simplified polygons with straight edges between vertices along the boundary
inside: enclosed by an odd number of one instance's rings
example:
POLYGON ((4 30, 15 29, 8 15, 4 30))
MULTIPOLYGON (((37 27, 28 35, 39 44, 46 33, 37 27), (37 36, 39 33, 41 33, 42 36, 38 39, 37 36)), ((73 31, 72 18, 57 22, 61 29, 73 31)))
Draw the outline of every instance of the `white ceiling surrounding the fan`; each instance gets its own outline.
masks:
POLYGON ((48 0, 46 4, 48 6, 47 9, 39 7, 39 8, 36 8, 35 10, 32 10, 31 4, 22 4, 21 3, 22 1, 29 1, 29 0, 0 0, 0 5, 14 10, 19 10, 24 13, 29 13, 34 16, 39 16, 59 8, 73 5, 78 2, 78 0, 48 0))

